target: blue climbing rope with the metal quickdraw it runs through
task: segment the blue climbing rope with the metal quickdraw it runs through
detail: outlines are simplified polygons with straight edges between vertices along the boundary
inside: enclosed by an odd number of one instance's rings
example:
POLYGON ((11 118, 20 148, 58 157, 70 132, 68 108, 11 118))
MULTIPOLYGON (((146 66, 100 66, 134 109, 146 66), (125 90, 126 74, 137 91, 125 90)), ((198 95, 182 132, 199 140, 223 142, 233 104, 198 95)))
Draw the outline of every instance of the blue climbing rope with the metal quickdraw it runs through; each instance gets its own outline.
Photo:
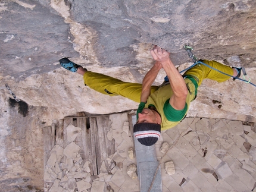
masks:
MULTIPOLYGON (((183 48, 188 52, 189 58, 192 59, 192 61, 193 61, 194 64, 191 65, 191 67, 188 67, 188 68, 186 68, 185 70, 180 71, 180 73, 183 73, 184 71, 189 70, 190 68, 194 67, 195 65, 200 65, 200 64, 202 64, 202 65, 205 65, 206 67, 209 67, 209 68, 211 68, 211 69, 213 69, 213 70, 215 70, 215 71, 218 71, 219 73, 222 73, 222 74, 227 75, 227 76, 229 76, 229 77, 233 77, 232 75, 226 74, 226 73, 224 73, 224 72, 222 72, 222 71, 220 71, 220 70, 217 70, 217 69, 214 68, 214 67, 211 67, 210 65, 205 64, 204 62, 198 61, 199 59, 198 59, 195 55, 193 55, 193 53, 192 53, 193 48, 192 48, 191 46, 185 44, 185 45, 183 46, 183 48)), ((242 79, 242 78, 239 78, 239 77, 233 77, 233 78, 234 78, 234 79, 241 80, 241 81, 244 81, 245 83, 252 84, 252 86, 255 86, 255 87, 256 87, 255 84, 251 83, 251 78, 249 78, 249 80, 245 80, 246 71, 245 71, 245 68, 244 68, 244 67, 242 67, 242 72, 243 72, 243 79, 242 79)))

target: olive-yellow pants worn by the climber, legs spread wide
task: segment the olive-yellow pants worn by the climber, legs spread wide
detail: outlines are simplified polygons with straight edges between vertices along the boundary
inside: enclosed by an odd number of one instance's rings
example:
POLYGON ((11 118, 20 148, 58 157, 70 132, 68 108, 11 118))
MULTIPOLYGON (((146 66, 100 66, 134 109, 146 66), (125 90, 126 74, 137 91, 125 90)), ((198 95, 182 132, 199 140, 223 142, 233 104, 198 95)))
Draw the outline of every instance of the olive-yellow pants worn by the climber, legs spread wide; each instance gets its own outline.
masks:
MULTIPOLYGON (((202 62, 216 68, 219 71, 222 71, 223 73, 233 75, 233 69, 227 65, 220 64, 217 61, 204 60, 202 62)), ((216 80, 217 82, 223 82, 230 78, 229 76, 221 74, 218 71, 211 70, 211 68, 202 64, 195 65, 195 67, 192 67, 186 71, 184 75, 191 75, 194 77, 198 83, 198 86, 201 85, 204 78, 210 78, 211 80, 216 80)), ((142 84, 140 83, 124 82, 118 80, 117 78, 104 74, 93 73, 91 71, 86 71, 86 73, 83 75, 83 80, 87 86, 99 93, 110 96, 120 95, 138 103, 141 100, 142 84)), ((151 93, 154 93, 157 89, 158 86, 151 86, 151 93)))

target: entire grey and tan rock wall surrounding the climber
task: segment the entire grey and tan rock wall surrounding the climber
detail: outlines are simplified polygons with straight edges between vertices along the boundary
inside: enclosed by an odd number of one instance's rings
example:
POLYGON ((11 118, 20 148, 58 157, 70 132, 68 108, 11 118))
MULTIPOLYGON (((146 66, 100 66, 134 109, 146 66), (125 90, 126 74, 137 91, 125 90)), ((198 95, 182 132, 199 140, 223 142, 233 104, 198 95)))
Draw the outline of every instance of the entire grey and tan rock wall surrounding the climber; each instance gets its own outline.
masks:
MULTIPOLYGON (((88 70, 141 83, 152 66, 152 44, 170 51, 174 64, 181 65, 189 62, 182 46, 190 43, 199 58, 246 67, 256 83, 255 10, 254 0, 1 1, 1 188, 43 190, 41 128, 54 119, 138 105, 90 90, 82 77, 60 68, 58 59, 68 56, 88 70)), ((164 76, 161 71, 155 84, 164 76)), ((255 90, 242 81, 205 80, 188 117, 255 121, 255 90)))

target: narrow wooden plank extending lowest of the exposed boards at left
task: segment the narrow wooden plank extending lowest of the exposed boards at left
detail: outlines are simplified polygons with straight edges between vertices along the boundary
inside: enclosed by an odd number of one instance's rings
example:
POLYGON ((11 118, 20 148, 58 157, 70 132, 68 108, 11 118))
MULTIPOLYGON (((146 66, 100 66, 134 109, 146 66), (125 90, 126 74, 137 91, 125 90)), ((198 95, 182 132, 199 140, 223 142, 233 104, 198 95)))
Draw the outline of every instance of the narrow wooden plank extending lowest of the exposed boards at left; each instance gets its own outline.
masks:
POLYGON ((98 175, 97 172, 97 159, 96 159, 96 141, 95 141, 95 130, 97 128, 96 118, 90 118, 90 143, 92 149, 92 174, 98 175))

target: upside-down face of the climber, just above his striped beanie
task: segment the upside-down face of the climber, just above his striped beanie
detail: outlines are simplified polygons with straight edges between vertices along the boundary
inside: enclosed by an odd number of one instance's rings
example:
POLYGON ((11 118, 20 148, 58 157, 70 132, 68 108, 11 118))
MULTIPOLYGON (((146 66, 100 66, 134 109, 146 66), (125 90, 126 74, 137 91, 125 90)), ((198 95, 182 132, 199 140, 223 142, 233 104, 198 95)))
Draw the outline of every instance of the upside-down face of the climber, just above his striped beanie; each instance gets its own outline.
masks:
POLYGON ((151 122, 151 123, 158 123, 159 124, 159 117, 158 113, 154 110, 149 108, 144 108, 141 113, 138 114, 138 121, 137 123, 142 122, 151 122))

